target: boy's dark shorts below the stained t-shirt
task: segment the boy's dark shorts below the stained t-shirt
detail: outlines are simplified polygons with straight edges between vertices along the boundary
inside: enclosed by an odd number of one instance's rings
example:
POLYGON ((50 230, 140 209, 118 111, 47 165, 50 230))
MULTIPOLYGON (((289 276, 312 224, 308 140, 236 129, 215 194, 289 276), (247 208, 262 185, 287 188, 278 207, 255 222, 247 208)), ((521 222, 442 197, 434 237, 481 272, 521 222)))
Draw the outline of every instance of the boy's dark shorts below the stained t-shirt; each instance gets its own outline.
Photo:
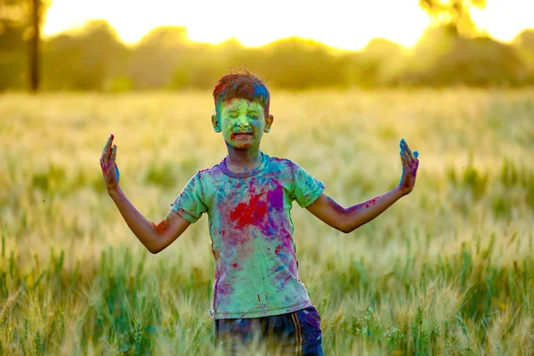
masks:
POLYGON ((224 355, 259 347, 270 355, 324 356, 320 315, 314 306, 263 318, 214 320, 215 348, 224 355))

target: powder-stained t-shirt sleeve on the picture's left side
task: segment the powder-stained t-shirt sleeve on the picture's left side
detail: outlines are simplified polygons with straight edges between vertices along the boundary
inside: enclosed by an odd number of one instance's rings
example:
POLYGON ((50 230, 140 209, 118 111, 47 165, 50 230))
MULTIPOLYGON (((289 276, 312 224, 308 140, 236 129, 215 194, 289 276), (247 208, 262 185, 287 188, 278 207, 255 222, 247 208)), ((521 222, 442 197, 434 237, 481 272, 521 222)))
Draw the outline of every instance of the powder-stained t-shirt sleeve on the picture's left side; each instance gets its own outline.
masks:
POLYGON ((207 207, 204 203, 200 174, 197 173, 191 177, 178 198, 171 204, 171 209, 190 223, 196 223, 202 213, 206 213, 207 207))

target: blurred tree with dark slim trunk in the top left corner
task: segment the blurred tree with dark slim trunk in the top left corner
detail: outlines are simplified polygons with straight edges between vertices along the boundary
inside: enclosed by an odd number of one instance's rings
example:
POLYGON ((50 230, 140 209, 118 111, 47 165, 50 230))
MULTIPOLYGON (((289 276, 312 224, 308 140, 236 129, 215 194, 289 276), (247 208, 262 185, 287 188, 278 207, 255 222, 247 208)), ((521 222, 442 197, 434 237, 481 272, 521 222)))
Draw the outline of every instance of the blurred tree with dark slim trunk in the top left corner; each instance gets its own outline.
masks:
POLYGON ((50 0, 0 0, 0 48, 5 51, 2 60, 12 66, 13 58, 19 57, 28 43, 28 77, 32 92, 39 86, 39 44, 44 14, 49 6, 50 0))

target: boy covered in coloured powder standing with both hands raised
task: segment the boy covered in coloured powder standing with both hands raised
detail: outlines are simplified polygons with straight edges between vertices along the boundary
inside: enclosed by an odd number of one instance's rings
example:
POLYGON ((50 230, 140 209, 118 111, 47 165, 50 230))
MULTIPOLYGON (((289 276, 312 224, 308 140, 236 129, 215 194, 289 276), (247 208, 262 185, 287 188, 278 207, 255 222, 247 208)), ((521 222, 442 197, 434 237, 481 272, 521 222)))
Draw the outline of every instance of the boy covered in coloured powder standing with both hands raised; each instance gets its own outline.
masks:
POLYGON ((235 354, 253 341, 269 352, 323 355, 320 315, 298 279, 292 238, 293 200, 331 227, 349 233, 373 220, 413 190, 417 151, 401 140, 399 185, 345 209, 323 193, 325 185, 289 159, 260 151, 273 116, 263 81, 247 70, 223 76, 214 88, 212 125, 228 155, 198 171, 158 224, 147 220, 118 185, 117 146, 109 136, 101 168, 109 196, 125 222, 153 254, 178 239, 190 223, 208 214, 214 255, 215 346, 235 354))

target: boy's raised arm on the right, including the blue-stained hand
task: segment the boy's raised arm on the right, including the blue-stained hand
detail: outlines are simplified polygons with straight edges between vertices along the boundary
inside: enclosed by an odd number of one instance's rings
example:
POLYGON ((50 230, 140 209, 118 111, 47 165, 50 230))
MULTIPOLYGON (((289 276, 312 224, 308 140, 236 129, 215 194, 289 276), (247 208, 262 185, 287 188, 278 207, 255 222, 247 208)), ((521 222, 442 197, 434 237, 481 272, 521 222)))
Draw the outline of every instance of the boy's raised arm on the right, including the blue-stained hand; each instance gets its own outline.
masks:
POLYGON ((419 154, 417 151, 412 153, 404 139, 401 140, 400 146, 402 176, 398 186, 376 198, 347 209, 322 193, 310 206, 306 206, 306 209, 324 223, 344 233, 352 232, 382 214, 395 201, 408 195, 416 184, 419 154))

